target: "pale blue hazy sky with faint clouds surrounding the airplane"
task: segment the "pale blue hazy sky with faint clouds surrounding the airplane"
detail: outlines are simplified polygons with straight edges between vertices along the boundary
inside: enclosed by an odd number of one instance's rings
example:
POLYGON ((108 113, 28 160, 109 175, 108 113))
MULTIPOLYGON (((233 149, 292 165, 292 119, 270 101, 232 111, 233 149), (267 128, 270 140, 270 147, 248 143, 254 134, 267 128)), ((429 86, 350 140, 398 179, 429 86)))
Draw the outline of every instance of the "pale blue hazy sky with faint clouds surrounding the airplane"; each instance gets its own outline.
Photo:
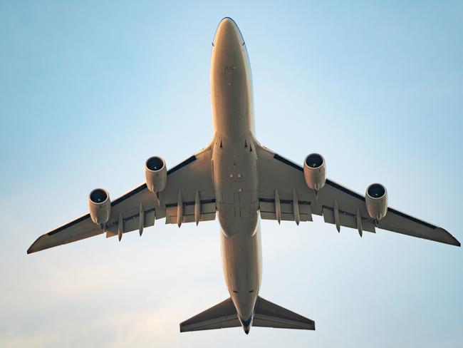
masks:
POLYGON ((231 16, 254 78, 257 137, 460 242, 461 1, 0 1, 0 347, 460 347, 463 250, 378 230, 264 221, 261 296, 315 332, 180 334, 226 299, 218 222, 158 223, 26 255, 117 198, 162 155, 212 137, 209 59, 231 16))

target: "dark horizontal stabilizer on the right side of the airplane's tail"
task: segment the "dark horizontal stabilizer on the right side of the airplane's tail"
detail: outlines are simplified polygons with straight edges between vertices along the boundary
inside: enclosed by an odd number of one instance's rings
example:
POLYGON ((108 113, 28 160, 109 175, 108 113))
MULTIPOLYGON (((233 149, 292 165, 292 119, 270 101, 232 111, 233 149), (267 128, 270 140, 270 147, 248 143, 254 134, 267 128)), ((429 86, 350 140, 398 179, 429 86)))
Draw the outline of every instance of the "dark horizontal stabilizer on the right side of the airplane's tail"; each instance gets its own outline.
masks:
POLYGON ((252 326, 314 330, 315 322, 259 296, 257 297, 252 326))

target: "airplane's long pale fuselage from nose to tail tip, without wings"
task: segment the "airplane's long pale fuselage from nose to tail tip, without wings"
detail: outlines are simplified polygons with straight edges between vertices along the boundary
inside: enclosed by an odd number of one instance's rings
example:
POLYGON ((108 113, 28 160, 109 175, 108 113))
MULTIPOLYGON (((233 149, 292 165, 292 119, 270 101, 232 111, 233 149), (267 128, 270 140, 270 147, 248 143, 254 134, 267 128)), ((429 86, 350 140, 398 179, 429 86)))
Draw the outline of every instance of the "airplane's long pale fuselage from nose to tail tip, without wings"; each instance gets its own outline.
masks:
POLYGON ((249 58, 238 26, 223 19, 211 58, 212 168, 227 287, 246 332, 261 284, 259 175, 249 58))

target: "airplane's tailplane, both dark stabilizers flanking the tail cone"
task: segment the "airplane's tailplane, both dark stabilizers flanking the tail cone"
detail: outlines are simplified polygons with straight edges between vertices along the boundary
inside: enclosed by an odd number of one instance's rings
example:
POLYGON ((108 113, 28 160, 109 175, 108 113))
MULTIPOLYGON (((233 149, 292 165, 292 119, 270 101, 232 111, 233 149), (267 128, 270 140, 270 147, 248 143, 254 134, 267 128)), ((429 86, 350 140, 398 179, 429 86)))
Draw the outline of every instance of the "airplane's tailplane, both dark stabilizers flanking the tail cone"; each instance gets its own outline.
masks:
MULTIPOLYGON (((275 305, 262 297, 257 297, 254 317, 251 324, 246 323, 245 332, 246 330, 249 332, 251 325, 254 327, 278 327, 281 329, 315 329, 313 320, 275 305)), ((182 322, 180 332, 241 326, 234 304, 229 298, 182 322)))

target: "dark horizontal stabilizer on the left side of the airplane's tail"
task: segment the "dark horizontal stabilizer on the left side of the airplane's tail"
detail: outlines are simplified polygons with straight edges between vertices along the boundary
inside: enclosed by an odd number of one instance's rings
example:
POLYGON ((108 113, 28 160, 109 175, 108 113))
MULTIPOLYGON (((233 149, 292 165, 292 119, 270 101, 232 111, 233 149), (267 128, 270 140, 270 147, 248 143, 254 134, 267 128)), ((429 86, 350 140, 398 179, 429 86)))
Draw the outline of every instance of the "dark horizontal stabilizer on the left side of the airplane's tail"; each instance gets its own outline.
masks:
POLYGON ((241 327, 231 298, 180 323, 180 332, 241 327))

